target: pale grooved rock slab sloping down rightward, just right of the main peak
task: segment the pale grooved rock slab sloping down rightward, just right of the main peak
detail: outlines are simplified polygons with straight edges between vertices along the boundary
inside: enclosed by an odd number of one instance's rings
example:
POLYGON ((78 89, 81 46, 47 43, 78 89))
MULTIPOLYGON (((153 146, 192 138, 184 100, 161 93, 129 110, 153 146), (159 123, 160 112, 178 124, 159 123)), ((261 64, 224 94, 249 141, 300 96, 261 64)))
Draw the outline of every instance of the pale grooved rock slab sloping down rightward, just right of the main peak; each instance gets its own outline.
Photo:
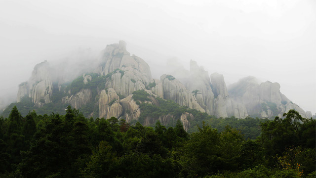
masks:
POLYGON ((181 106, 188 106, 192 109, 205 112, 197 103, 196 97, 184 87, 177 79, 170 75, 162 75, 160 81, 163 86, 163 98, 175 101, 181 106))

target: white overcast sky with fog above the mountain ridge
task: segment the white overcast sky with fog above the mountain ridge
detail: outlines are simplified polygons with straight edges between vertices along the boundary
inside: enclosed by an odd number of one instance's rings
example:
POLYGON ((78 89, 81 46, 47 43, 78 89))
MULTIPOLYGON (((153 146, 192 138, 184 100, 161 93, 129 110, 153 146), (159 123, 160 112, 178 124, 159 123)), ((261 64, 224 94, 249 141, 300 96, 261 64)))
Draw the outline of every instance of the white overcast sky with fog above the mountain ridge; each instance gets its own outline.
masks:
POLYGON ((155 78, 168 60, 192 59, 227 85, 277 82, 316 113, 315 0, 0 0, 0 97, 45 59, 119 40, 155 78))

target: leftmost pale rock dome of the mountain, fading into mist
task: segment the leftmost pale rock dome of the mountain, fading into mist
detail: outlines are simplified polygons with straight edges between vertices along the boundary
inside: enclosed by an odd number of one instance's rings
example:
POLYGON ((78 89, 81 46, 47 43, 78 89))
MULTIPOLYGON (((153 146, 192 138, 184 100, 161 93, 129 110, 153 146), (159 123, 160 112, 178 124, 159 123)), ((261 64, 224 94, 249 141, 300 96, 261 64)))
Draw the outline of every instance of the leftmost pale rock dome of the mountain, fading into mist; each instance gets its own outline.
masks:
POLYGON ((53 85, 49 70, 47 61, 37 64, 29 81, 19 85, 17 102, 20 102, 22 97, 28 95, 38 107, 43 106, 45 103, 50 103, 53 85))

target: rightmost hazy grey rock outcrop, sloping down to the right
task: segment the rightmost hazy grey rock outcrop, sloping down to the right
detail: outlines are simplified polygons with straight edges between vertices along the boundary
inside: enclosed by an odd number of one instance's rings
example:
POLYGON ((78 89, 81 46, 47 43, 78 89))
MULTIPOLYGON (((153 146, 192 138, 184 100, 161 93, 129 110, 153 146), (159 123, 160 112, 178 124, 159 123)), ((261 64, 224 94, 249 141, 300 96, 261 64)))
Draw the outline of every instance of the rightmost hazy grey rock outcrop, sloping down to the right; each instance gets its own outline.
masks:
POLYGON ((303 109, 280 92, 278 83, 267 81, 259 85, 254 77, 249 76, 233 84, 229 93, 235 102, 245 105, 252 117, 282 117, 290 109, 295 109, 302 117, 306 117, 303 109))

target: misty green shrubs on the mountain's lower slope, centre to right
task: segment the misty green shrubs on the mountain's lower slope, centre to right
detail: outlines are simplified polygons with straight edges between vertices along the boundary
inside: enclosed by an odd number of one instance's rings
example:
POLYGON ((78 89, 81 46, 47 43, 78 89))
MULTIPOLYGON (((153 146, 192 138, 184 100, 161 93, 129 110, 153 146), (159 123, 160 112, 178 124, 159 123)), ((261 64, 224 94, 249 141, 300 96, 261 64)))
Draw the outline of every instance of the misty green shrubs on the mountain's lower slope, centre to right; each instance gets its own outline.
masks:
MULTIPOLYGON (((225 119, 218 119, 215 116, 210 116, 207 113, 202 113, 196 109, 190 109, 186 106, 180 106, 172 100, 162 99, 157 97, 156 100, 158 105, 150 104, 145 101, 151 101, 149 94, 144 90, 137 90, 133 92, 132 98, 140 106, 141 115, 138 119, 138 122, 144 123, 146 117, 155 118, 156 120, 160 116, 170 114, 173 116, 174 120, 170 121, 166 127, 174 127, 176 121, 180 119, 183 113, 191 113, 193 118, 188 118, 191 123, 188 133, 198 132, 198 128, 203 126, 203 123, 211 126, 212 128, 217 129, 218 131, 224 131, 227 125, 232 128, 237 129, 244 134, 245 138, 255 139, 260 135, 261 128, 260 123, 268 121, 268 119, 254 119, 247 117, 245 119, 237 119, 234 116, 225 119)), ((136 121, 132 121, 133 124, 136 121)), ((152 125, 155 127, 155 125, 152 125)))

